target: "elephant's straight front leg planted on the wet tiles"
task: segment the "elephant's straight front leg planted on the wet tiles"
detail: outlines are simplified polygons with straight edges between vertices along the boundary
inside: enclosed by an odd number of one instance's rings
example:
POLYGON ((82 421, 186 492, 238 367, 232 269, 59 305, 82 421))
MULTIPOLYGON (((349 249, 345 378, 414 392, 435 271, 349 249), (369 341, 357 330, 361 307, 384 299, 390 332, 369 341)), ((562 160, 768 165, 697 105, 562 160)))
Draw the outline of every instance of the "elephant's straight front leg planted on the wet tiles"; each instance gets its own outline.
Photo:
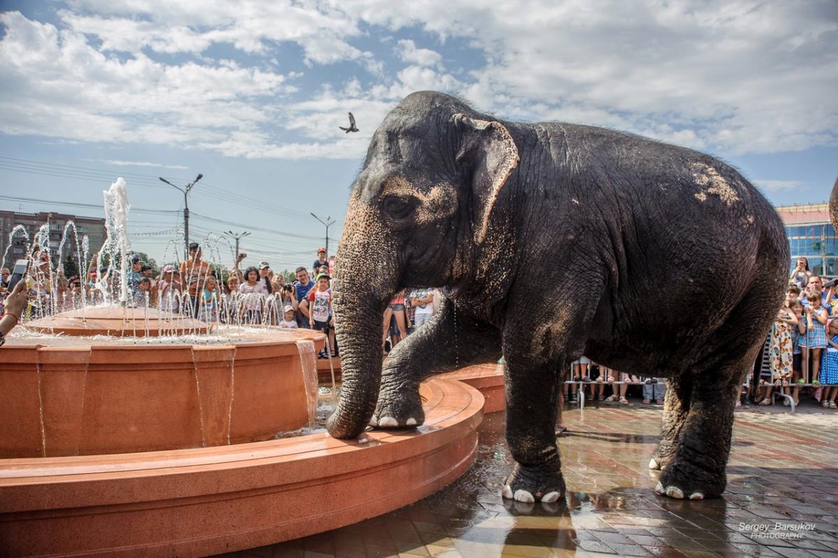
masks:
POLYGON ((506 360, 506 442, 515 468, 504 483, 504 498, 556 502, 565 494, 556 444, 559 364, 532 362, 528 355, 506 360))

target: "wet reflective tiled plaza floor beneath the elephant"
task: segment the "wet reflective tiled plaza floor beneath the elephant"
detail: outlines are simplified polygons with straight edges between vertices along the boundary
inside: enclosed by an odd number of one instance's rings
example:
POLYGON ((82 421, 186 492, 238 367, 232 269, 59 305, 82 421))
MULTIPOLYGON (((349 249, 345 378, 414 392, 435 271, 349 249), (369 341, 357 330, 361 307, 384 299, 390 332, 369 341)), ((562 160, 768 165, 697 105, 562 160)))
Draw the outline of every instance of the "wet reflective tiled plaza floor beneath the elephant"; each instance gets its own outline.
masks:
POLYGON ((473 467, 450 487, 391 514, 231 556, 838 556, 838 413, 782 409, 737 410, 721 499, 654 494, 660 473, 647 466, 661 408, 633 402, 566 411, 566 503, 504 501, 510 455, 504 414, 495 413, 480 426, 473 467))

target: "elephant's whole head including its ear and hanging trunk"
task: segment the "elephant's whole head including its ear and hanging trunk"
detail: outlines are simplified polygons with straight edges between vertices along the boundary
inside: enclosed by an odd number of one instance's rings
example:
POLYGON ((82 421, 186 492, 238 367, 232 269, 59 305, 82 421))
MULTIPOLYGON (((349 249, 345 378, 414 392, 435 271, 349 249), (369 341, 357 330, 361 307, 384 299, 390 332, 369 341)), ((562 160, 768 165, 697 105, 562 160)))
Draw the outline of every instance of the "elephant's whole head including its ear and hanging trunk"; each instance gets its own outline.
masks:
POLYGON ((456 286, 473 277, 470 262, 518 161, 504 124, 440 93, 411 94, 375 131, 335 267, 343 392, 328 419, 332 436, 357 437, 375 411, 391 297, 402 287, 456 286))

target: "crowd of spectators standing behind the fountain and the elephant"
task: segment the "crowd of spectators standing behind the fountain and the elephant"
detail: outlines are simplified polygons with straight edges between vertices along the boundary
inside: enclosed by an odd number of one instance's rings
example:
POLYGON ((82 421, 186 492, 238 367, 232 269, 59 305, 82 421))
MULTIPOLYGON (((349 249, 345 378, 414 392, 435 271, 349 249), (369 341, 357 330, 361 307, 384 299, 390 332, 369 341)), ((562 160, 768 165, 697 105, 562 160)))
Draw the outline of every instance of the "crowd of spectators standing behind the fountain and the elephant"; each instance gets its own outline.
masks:
MULTIPOLYGON (((127 303, 134 307, 155 307, 198 318, 204 322, 272 325, 279 328, 312 328, 328 335, 328 348, 339 355, 334 338, 331 276, 326 250, 310 267, 299 266, 295 276, 275 273, 267 261, 240 270, 246 256, 239 254, 230 270, 213 269, 204 261, 197 243, 189 245, 189 259, 179 266, 168 264, 157 276, 153 267, 132 257, 126 273, 127 303)), ((0 312, 9 270, 0 270, 0 312)), ((62 312, 79 307, 82 299, 95 304, 107 294, 121 296, 119 274, 91 261, 87 276, 65 277, 53 270, 48 251, 35 251, 25 280, 27 304, 20 318, 62 312)), ((754 365, 747 385, 747 398, 760 406, 773 405, 775 390, 781 390, 784 404, 799 404, 810 394, 828 409, 838 408, 838 319, 833 318, 835 281, 824 284, 801 257, 789 276, 783 307, 754 365)), ((401 291, 392 298, 383 316, 381 345, 385 353, 437 313, 442 293, 436 289, 401 291)), ((318 355, 326 358, 328 354, 318 355)), ((582 357, 572 364, 572 375, 562 398, 576 402, 579 390, 603 403, 628 405, 629 386, 638 385, 644 404, 661 404, 664 380, 628 375, 592 363, 582 357), (580 387, 581 386, 581 387, 580 387), (607 394, 608 390, 608 394, 607 394)), ((632 388, 633 389, 633 388, 632 388)))

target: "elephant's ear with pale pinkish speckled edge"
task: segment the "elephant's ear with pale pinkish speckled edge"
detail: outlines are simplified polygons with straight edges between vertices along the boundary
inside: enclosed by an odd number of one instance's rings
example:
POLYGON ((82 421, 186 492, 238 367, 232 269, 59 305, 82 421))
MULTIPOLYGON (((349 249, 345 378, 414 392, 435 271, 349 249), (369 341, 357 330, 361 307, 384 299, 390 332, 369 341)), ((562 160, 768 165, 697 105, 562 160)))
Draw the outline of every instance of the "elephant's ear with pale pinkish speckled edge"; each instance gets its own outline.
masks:
POLYGON ((498 121, 453 116, 461 135, 458 166, 470 168, 474 241, 481 244, 489 229, 489 214, 512 169, 518 166, 518 147, 510 131, 498 121))

